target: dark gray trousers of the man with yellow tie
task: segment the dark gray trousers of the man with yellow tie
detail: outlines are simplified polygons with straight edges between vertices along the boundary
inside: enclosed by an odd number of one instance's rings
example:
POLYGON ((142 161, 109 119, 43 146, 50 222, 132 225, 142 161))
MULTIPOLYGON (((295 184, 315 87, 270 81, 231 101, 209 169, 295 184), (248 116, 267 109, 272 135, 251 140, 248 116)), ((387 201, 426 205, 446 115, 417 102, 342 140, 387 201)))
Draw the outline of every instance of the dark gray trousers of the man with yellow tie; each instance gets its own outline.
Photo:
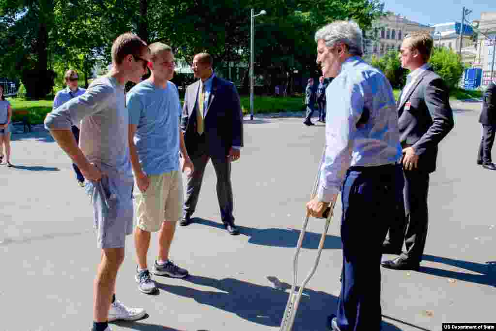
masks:
POLYGON ((212 159, 212 164, 217 176, 217 199, 219 200, 222 222, 226 224, 234 224, 231 162, 227 157, 210 157, 210 155, 206 152, 206 148, 201 147, 204 145, 204 142, 200 143, 198 145, 200 148, 197 149, 193 155, 190 155, 191 161, 193 162, 194 171, 193 175, 191 177, 187 177, 186 179, 184 212, 191 215, 195 211, 198 196, 200 194, 201 183, 203 181, 203 174, 205 173, 205 167, 208 161, 212 159))

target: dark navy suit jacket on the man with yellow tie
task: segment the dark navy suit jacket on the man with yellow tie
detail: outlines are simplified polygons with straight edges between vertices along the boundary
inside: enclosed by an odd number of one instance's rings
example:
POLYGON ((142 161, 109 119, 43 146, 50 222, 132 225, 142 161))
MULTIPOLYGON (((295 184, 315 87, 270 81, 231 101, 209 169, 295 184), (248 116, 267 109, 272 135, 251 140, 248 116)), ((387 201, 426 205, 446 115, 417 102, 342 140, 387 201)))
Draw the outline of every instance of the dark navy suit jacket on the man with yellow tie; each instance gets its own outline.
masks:
MULTIPOLYGON (((196 111, 198 109, 198 92, 200 80, 186 88, 181 129, 184 132, 186 150, 195 155, 198 150, 196 132, 196 111)), ((236 86, 225 79, 215 76, 208 107, 204 110, 204 134, 206 152, 211 157, 225 158, 232 146, 243 147, 243 114, 240 96, 236 86)))

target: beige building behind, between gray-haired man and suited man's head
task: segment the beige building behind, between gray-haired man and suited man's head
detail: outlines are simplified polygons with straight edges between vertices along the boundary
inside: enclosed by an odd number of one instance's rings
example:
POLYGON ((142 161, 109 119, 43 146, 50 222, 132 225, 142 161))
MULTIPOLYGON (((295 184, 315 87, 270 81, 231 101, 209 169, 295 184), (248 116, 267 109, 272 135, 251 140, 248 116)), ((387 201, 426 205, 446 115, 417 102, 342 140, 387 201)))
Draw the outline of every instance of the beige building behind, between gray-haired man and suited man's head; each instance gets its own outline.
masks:
POLYGON ((399 50, 403 38, 412 31, 434 32, 434 27, 408 20, 404 16, 388 14, 372 23, 372 35, 366 42, 365 53, 380 58, 389 50, 399 50))

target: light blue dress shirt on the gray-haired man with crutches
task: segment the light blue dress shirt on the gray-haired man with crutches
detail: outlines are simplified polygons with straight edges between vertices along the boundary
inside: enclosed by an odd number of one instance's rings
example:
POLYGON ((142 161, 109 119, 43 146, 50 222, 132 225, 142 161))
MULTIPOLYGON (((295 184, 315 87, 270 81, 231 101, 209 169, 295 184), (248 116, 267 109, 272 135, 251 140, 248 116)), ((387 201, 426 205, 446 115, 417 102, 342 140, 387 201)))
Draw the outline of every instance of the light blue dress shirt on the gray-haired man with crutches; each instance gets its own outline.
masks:
POLYGON ((350 166, 393 164, 401 158, 401 146, 391 84, 360 57, 343 63, 341 72, 327 86, 325 97, 325 155, 317 197, 329 202, 341 191, 350 166), (357 128, 365 107, 369 120, 357 128))

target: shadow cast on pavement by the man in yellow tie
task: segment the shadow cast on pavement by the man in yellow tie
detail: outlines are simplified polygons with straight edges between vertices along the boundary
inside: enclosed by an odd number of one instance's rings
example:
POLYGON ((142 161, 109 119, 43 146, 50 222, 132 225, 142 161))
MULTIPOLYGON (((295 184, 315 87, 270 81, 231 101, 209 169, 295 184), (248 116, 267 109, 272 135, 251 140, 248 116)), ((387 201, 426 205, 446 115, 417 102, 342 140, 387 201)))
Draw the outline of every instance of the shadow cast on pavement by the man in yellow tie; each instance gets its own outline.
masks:
MULTIPOLYGON (((221 223, 198 217, 192 217, 191 219, 194 223, 224 229, 224 225, 221 223)), ((242 225, 238 225, 238 229, 241 235, 250 237, 248 243, 253 245, 291 248, 296 247, 300 237, 300 230, 297 229, 255 229, 242 225)), ((302 248, 317 249, 321 236, 321 233, 306 232, 302 248)), ((341 237, 326 235, 323 249, 341 249, 341 237)))

